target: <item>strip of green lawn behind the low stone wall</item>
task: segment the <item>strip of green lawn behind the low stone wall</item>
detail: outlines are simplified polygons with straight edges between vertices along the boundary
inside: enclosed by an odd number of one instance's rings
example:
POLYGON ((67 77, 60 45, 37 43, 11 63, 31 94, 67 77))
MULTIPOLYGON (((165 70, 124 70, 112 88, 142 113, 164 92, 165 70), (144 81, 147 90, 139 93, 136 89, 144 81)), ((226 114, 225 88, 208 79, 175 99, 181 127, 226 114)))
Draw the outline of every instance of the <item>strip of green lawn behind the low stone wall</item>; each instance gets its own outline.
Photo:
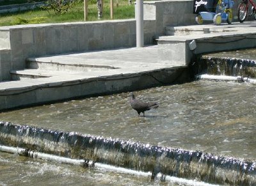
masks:
MULTIPOLYGON (((129 5, 127 0, 119 0, 118 6, 114 3, 113 19, 134 18, 134 5, 129 5)), ((103 17, 100 20, 110 19, 109 0, 104 1, 103 17)), ((99 20, 97 17, 96 4, 88 5, 87 21, 99 20)), ((67 13, 56 15, 53 10, 33 10, 19 13, 5 13, 0 15, 0 26, 11 26, 17 24, 39 24, 84 21, 83 3, 74 4, 67 13)))

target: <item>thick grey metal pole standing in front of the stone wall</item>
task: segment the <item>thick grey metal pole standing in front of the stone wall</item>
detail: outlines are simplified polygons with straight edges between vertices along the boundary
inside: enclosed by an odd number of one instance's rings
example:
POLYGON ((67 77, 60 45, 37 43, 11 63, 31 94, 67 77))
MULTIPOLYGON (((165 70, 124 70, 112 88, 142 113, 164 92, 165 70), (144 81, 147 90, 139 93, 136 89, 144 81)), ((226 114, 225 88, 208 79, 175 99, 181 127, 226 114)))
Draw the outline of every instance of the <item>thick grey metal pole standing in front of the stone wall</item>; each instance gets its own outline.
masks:
POLYGON ((144 46, 143 0, 136 0, 136 46, 144 46))

